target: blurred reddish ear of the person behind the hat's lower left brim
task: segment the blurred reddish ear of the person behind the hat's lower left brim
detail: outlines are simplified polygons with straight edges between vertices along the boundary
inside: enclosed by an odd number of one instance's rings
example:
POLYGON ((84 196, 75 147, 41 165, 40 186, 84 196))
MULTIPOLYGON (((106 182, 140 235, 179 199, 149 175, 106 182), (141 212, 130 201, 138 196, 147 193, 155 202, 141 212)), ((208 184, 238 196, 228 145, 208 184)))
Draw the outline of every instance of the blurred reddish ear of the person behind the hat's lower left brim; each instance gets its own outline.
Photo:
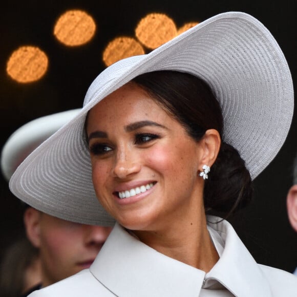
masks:
POLYGON ((24 223, 27 237, 30 242, 37 248, 40 247, 40 220, 41 213, 39 210, 28 207, 24 213, 24 223))

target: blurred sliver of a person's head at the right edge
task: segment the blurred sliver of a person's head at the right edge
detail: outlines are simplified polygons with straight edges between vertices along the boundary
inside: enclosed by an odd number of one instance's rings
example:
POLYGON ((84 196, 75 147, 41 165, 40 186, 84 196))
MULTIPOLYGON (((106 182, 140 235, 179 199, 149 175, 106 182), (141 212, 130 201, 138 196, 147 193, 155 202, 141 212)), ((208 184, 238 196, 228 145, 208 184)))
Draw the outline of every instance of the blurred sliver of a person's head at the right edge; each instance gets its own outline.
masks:
POLYGON ((297 232, 297 157, 293 167, 293 185, 287 195, 287 211, 290 224, 297 232))

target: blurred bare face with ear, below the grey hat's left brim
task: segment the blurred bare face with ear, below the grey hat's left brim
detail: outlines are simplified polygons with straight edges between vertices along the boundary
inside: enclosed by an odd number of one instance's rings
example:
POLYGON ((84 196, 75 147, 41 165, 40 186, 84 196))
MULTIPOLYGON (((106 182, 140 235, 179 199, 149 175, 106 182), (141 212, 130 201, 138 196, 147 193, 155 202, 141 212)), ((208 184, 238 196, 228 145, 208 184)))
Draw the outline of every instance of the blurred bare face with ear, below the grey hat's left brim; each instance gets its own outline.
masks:
POLYGON ((27 207, 27 236, 40 251, 42 283, 48 286, 89 268, 111 227, 65 221, 27 207))

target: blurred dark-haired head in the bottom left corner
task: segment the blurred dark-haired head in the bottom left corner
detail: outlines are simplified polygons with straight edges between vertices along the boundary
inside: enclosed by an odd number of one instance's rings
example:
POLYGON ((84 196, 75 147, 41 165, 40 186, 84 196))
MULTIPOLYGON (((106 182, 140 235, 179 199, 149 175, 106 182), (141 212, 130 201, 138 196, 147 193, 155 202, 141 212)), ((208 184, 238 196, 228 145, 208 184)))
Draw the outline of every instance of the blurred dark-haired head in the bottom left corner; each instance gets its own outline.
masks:
POLYGON ((40 282, 39 250, 23 235, 3 254, 0 264, 1 296, 19 297, 40 282))

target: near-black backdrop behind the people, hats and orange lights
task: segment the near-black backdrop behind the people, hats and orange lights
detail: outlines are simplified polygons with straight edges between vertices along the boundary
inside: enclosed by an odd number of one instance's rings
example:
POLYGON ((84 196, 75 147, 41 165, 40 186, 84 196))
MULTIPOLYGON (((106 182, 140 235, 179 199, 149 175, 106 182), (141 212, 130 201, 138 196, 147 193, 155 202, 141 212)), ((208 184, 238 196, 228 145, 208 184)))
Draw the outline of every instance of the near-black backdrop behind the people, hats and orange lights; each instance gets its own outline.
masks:
MULTIPOLYGON (((119 35, 134 36, 148 13, 165 13, 177 27, 217 13, 243 11, 258 18, 280 44, 296 81, 296 11, 288 1, 5 1, 0 17, 0 149, 19 126, 40 116, 80 108, 89 84, 105 67, 102 52, 119 35), (83 9, 97 24, 95 38, 79 48, 67 48, 53 36, 60 14, 83 9), (6 62, 19 46, 38 46, 49 57, 49 70, 38 82, 18 84, 6 74, 6 62)), ((278 156, 254 181, 251 205, 232 219, 256 261, 292 271, 297 266, 297 235, 289 225, 286 195, 297 152, 296 119, 278 156)), ((0 257, 23 228, 22 208, 0 177, 0 257)))

